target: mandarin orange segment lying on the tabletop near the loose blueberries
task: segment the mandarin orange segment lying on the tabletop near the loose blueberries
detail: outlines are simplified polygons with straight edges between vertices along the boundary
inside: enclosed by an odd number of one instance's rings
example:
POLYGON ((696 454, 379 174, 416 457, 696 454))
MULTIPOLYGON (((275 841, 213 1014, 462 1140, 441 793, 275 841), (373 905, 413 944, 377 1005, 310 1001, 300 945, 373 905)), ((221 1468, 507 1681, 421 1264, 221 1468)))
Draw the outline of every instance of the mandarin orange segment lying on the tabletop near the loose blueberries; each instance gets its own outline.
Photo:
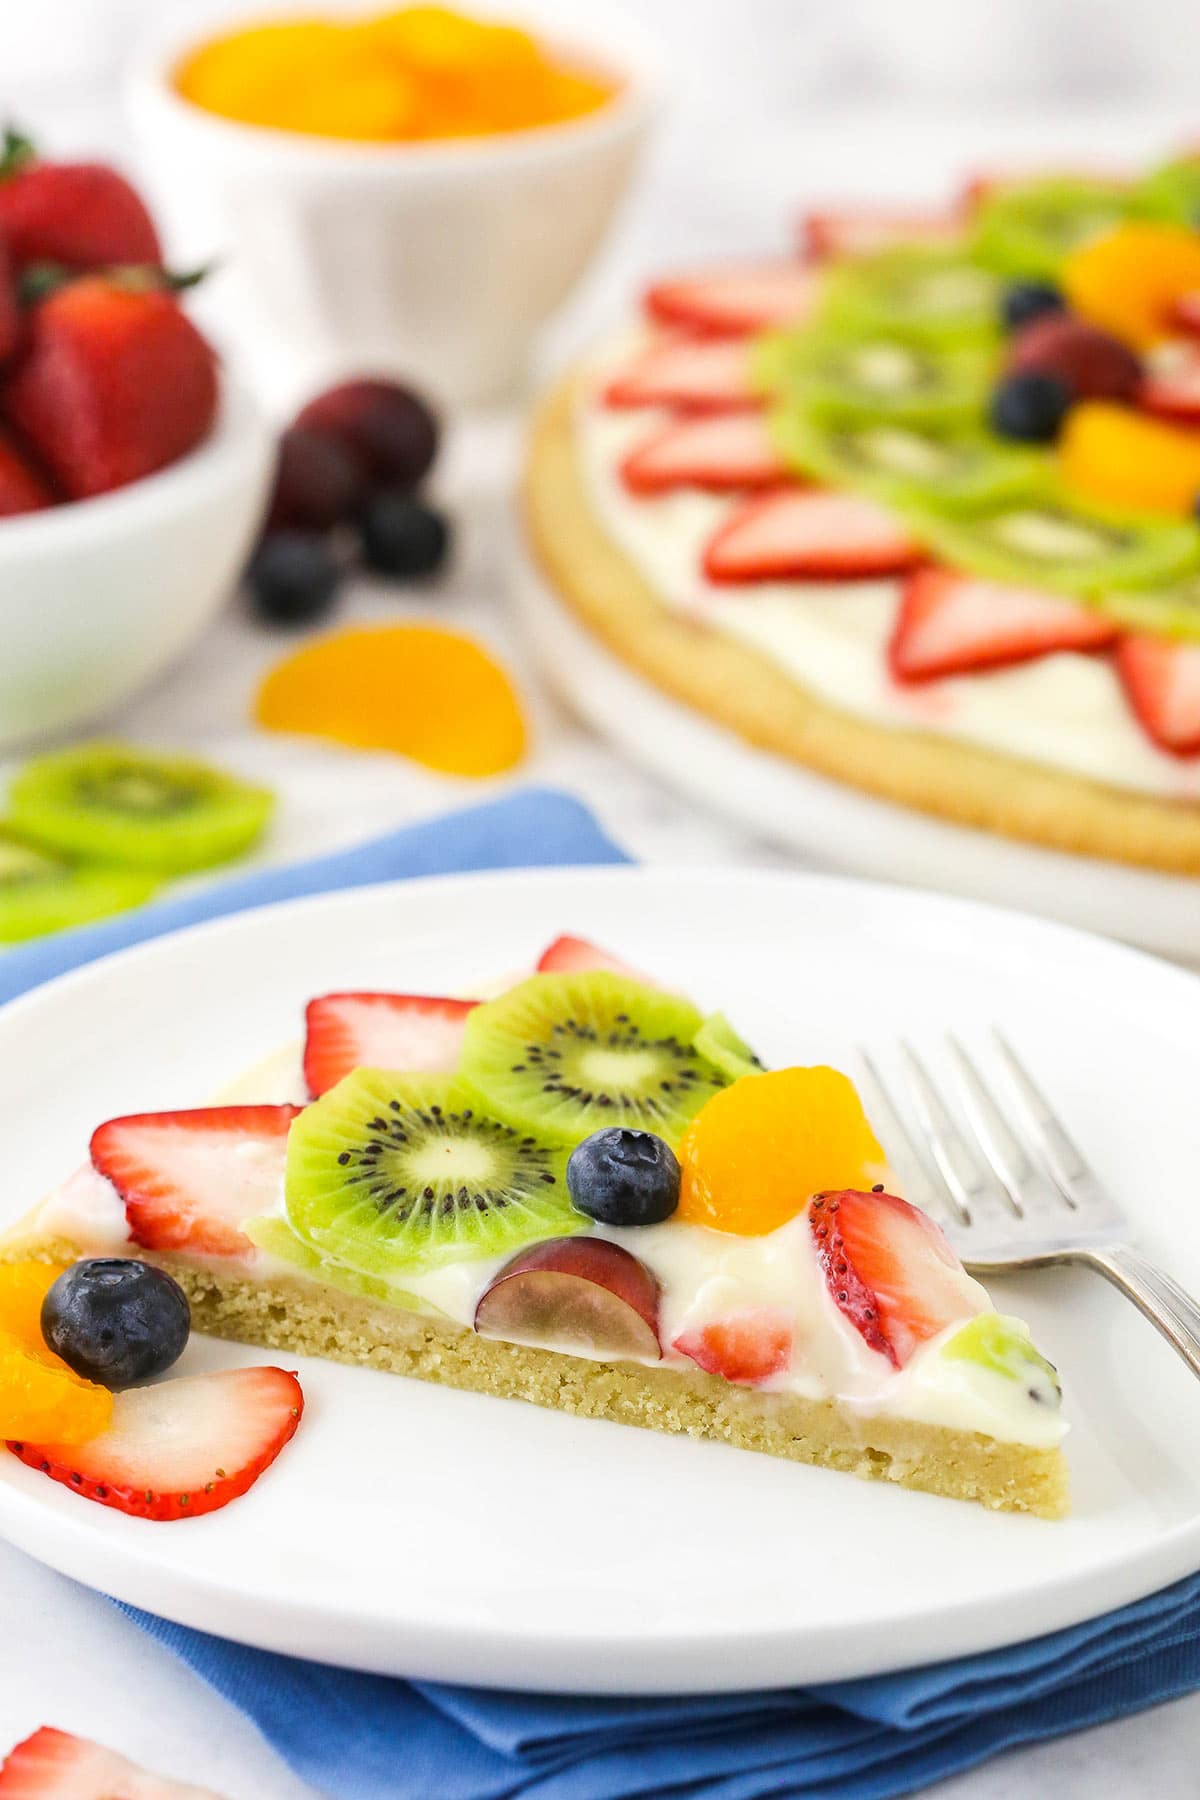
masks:
POLYGON ((396 751, 453 776, 495 776, 525 754, 513 682, 461 632, 362 626, 297 650, 264 679, 255 716, 270 731, 396 751))

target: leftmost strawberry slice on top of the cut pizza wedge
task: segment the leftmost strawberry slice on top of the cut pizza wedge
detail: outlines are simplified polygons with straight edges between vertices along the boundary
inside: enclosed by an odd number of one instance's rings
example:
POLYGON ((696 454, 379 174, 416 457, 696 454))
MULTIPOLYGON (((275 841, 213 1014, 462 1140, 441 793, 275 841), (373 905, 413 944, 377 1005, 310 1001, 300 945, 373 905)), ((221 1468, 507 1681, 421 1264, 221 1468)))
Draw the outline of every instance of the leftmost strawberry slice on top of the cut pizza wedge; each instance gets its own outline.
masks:
POLYGON ((241 1224, 275 1204, 299 1111, 133 1112, 94 1132, 92 1165, 124 1201, 135 1244, 243 1256, 252 1246, 241 1224))

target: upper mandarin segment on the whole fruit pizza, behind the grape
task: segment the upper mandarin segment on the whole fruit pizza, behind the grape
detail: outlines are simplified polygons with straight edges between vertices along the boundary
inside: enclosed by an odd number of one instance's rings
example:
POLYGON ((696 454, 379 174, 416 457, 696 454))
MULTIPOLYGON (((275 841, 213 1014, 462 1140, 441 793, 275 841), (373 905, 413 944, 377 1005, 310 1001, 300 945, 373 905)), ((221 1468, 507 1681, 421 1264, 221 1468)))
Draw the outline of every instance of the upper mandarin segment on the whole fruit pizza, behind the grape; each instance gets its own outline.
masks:
POLYGON ((1200 234, 1133 220, 1067 257, 1072 311, 1135 349, 1169 337, 1178 301, 1200 288, 1200 234))

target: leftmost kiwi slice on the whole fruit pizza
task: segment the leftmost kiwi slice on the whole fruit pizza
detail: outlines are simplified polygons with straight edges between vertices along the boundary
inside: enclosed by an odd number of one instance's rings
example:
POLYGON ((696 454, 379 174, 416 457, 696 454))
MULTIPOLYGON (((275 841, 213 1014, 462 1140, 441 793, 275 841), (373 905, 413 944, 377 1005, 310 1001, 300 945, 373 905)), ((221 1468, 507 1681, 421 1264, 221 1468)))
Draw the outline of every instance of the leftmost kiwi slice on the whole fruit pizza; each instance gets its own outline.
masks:
POLYGON ((979 344, 943 349, 903 331, 797 333, 774 347, 783 400, 811 419, 950 423, 979 418, 995 376, 995 355, 979 344))

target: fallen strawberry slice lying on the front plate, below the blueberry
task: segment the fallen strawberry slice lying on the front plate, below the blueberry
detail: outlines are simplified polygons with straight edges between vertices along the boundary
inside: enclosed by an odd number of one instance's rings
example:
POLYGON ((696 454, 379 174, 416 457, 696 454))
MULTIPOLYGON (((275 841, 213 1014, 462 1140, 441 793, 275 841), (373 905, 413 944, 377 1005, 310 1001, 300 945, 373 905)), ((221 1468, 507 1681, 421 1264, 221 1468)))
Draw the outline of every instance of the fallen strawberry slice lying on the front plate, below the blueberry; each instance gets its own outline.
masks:
POLYGON ((268 1469, 304 1411, 282 1368, 180 1375, 113 1399, 108 1431, 88 1444, 14 1444, 31 1469, 139 1519, 194 1519, 237 1499, 268 1469))

